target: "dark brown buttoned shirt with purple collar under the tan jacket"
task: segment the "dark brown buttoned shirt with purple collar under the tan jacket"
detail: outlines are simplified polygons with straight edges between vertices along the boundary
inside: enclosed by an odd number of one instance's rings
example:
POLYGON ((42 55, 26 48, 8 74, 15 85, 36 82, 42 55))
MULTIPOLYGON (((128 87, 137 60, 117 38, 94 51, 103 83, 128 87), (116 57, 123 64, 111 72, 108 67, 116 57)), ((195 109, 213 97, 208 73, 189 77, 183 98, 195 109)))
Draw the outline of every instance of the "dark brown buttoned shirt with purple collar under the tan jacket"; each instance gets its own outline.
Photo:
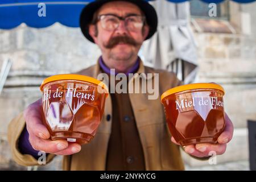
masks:
MULTIPOLYGON (((104 64, 102 58, 99 61, 101 70, 111 72, 104 64)), ((137 72, 139 59, 125 74, 137 72)), ((117 75, 117 73, 115 73, 117 75)), ((113 76, 113 75, 112 75, 113 76)), ((110 78, 109 78, 110 80, 110 78)), ((127 79, 127 82, 129 80, 127 79)), ((117 84, 119 80, 115 81, 117 84)), ((115 85, 110 85, 115 86, 115 85)), ((131 107, 129 94, 110 93, 112 98, 112 132, 108 144, 108 155, 106 159, 106 170, 144 170, 144 155, 139 138, 137 125, 131 107)))

